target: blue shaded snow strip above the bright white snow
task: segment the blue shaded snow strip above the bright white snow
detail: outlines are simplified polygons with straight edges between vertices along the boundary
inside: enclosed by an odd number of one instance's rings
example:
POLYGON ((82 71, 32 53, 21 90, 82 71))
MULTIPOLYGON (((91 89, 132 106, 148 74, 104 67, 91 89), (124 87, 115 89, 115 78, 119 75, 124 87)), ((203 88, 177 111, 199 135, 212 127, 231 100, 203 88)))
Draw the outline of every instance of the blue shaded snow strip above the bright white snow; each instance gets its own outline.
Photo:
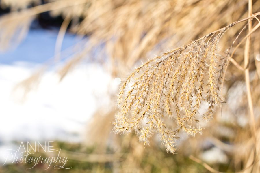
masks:
MULTIPOLYGON (((44 63, 54 57, 55 44, 58 30, 30 29, 25 39, 17 47, 12 47, 5 52, 0 52, 1 64, 16 62, 44 63)), ((66 33, 62 43, 62 50, 71 49, 65 58, 73 52, 73 45, 79 43, 82 37, 66 33)))

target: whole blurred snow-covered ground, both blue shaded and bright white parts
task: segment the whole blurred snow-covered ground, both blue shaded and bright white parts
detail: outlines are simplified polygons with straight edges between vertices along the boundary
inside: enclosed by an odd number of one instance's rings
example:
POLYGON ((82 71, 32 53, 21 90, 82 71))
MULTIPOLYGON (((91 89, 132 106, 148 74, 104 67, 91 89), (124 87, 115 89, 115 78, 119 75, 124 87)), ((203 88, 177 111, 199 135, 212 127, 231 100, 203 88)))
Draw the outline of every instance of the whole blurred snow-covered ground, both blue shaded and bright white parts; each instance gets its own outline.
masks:
MULTIPOLYGON (((30 31, 17 48, 0 53, 0 144, 79 141, 98 105, 108 104, 107 89, 116 90, 118 79, 112 79, 97 64, 82 63, 61 82, 55 67, 47 70, 39 86, 21 101, 23 90, 14 92, 14 87, 53 56, 56 37, 57 32, 30 31)), ((77 42, 78 38, 66 35, 63 49, 77 42)))

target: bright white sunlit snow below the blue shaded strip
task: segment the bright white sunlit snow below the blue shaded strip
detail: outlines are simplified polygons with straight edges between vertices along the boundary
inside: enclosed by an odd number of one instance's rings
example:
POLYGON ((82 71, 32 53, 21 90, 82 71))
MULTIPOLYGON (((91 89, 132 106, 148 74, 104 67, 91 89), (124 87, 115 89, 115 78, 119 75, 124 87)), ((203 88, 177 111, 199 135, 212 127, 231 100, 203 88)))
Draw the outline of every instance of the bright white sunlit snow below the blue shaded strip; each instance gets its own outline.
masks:
POLYGON ((100 104, 107 104, 107 89, 116 89, 117 83, 93 64, 79 65, 61 82, 54 71, 48 71, 21 102, 17 95, 22 91, 13 88, 32 72, 25 64, 0 65, 0 140, 83 139, 87 121, 100 104), (99 97, 103 103, 97 101, 99 97))

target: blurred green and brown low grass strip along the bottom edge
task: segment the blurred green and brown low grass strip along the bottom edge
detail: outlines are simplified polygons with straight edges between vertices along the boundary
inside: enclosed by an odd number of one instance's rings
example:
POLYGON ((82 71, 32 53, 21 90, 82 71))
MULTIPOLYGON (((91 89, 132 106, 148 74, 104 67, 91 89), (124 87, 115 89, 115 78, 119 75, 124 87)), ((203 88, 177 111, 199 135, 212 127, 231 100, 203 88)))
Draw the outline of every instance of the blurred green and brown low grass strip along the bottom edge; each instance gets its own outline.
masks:
MULTIPOLYGON (((139 148, 133 150, 132 147, 136 147, 134 143, 138 142, 138 139, 129 138, 128 140, 130 145, 124 148, 122 153, 117 154, 111 148, 106 149, 106 154, 98 154, 96 152, 98 148, 94 148, 94 146, 90 148, 82 144, 55 142, 53 149, 62 148, 60 156, 68 157, 65 167, 70 169, 54 169, 54 165, 63 165, 54 163, 50 167, 48 163, 39 163, 34 168, 32 168, 34 163, 16 163, 1 166, 0 172, 208 172, 203 166, 182 154, 172 155, 160 148, 147 147, 144 149, 140 145, 139 148)), ((44 151, 35 152, 35 157, 38 156, 48 157, 50 155, 44 151)), ((228 164, 220 164, 219 169, 223 172, 231 171, 228 164)))

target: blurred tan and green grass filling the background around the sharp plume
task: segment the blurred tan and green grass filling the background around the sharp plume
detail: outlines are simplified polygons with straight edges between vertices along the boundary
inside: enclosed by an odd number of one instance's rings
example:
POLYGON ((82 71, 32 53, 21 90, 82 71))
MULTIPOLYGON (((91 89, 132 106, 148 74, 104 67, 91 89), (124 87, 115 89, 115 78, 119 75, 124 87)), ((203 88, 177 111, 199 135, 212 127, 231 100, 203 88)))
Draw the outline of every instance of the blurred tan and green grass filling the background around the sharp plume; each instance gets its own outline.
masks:
MULTIPOLYGON (((252 7, 253 13, 259 12, 260 1, 253 1, 252 7)), ((38 21, 43 28, 60 27, 51 65, 60 63, 63 58, 60 52, 66 32, 87 38, 81 44, 83 49, 75 45, 77 51, 57 67, 60 80, 88 58, 88 63, 99 64, 112 80, 123 81, 131 69, 155 57, 154 54, 190 43, 248 15, 247 0, 2 0, 1 8, 6 13, 0 18, 2 51, 21 42, 32 21, 38 21)), ((253 25, 257 22, 253 20, 253 25)), ((224 55, 244 25, 237 24, 224 35, 218 48, 220 55, 224 55)), ((238 42, 245 35, 243 32, 238 42)), ((259 30, 252 34, 249 68, 257 139, 260 136, 259 35, 259 30)), ((239 64, 244 61, 243 46, 245 43, 233 57, 239 64)), ((48 65, 21 82, 19 87, 29 92, 27 89, 34 88, 48 65)), ((234 65, 229 66, 223 89, 227 103, 216 110, 213 119, 205 122, 203 135, 191 138, 183 134, 177 143, 178 154, 174 155, 166 153, 157 135, 149 146, 144 146, 135 135, 111 133, 111 122, 117 112, 116 94, 117 91, 108 89, 104 98, 109 101, 96 105, 96 113, 86 125, 83 142, 56 141, 55 147, 63 149, 69 159, 66 166, 71 169, 44 170, 46 165, 40 165, 28 170, 29 165, 15 164, 1 166, 0 172, 209 172, 205 164, 202 166, 204 162, 220 172, 259 172, 259 161, 253 162, 254 142, 244 73, 234 65), (202 160, 201 164, 192 161, 190 155, 202 160)), ((259 140, 255 145, 259 148, 259 140)))

